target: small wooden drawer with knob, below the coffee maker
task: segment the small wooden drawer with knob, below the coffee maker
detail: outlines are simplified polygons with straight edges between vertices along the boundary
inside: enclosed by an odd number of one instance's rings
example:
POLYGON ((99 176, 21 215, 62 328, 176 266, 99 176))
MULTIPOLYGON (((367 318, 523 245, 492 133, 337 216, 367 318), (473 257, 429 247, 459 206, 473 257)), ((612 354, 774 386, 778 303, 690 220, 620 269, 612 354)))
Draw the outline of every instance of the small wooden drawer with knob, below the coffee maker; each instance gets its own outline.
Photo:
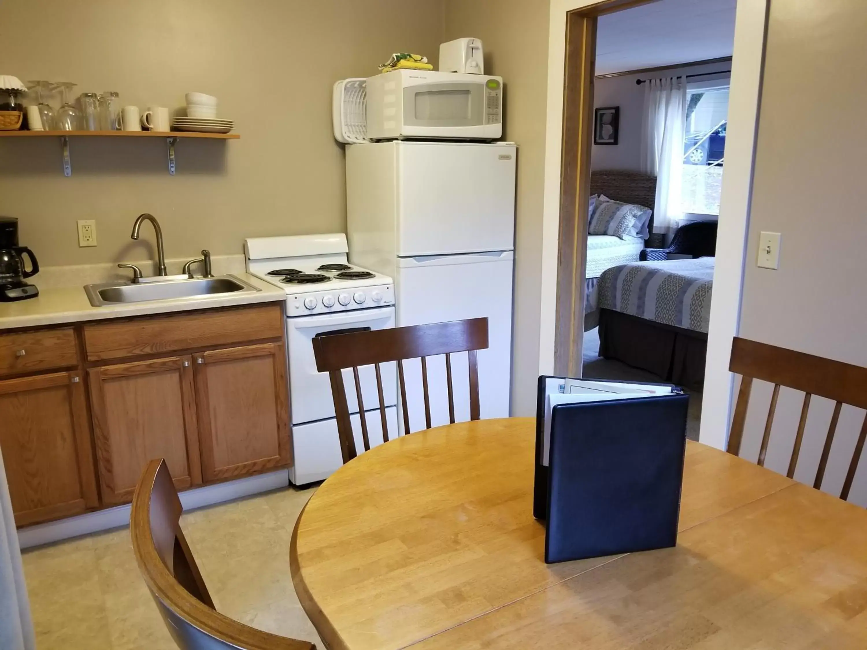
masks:
POLYGON ((30 373, 77 363, 72 328, 0 335, 0 374, 30 373))

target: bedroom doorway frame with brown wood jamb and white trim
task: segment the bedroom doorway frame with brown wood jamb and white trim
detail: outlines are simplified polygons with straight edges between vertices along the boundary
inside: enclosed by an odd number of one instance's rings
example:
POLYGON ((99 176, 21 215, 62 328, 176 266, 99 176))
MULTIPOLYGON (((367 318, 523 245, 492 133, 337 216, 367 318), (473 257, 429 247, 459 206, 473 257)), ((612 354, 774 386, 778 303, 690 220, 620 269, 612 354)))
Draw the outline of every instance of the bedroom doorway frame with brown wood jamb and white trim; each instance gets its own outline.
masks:
MULTIPOLYGON (((656 0, 551 0, 539 372, 581 372, 596 17, 656 0)), ((727 155, 701 440, 725 447, 731 341, 740 322, 769 0, 738 0, 727 155), (710 400, 708 400, 710 397, 710 400)))

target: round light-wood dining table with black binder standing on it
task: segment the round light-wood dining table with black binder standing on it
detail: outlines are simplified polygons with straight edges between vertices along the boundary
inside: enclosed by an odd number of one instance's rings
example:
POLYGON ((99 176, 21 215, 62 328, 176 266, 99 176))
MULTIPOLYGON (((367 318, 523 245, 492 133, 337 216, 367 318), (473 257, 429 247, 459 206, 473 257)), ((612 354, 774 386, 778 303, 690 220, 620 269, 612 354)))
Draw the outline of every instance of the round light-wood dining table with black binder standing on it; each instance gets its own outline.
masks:
POLYGON ((310 498, 292 580, 338 648, 864 648, 867 512, 688 444, 674 549, 545 564, 535 419, 441 426, 310 498))

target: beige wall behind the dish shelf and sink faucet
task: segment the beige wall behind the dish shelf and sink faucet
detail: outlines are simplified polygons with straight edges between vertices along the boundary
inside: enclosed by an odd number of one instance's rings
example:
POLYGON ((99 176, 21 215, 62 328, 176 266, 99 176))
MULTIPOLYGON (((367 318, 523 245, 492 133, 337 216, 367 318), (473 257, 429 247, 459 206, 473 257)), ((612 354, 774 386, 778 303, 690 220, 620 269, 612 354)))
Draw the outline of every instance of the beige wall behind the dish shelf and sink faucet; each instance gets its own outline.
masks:
POLYGON ((142 211, 160 219, 168 257, 343 231, 331 86, 375 74, 396 51, 436 64, 442 33, 442 0, 406 11, 388 0, 4 0, 0 74, 116 90, 142 110, 215 94, 241 140, 181 141, 174 177, 165 140, 73 140, 68 179, 57 140, 2 140, 0 214, 20 218, 23 244, 46 265, 147 257, 149 244, 129 240, 142 211), (96 219, 96 248, 77 247, 82 218, 96 219))

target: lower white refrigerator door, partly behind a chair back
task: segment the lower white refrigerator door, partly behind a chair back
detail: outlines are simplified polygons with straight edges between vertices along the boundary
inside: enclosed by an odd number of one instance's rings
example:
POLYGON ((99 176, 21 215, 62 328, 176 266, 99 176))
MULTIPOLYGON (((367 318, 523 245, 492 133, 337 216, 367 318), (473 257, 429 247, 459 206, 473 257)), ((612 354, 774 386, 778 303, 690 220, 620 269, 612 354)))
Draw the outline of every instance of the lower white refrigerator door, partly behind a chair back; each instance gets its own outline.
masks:
MULTIPOLYGON (((511 251, 399 260, 396 278, 397 325, 487 317, 489 347, 479 351, 482 418, 509 417, 512 374, 511 251)), ((455 419, 470 418, 467 354, 452 355, 455 419)), ((404 364, 410 431, 425 428, 421 364, 404 364)), ((431 425, 448 424, 445 357, 427 360, 431 425)), ((400 406, 399 406, 400 408, 400 406)), ((402 426, 402 418, 401 418, 402 426)))

